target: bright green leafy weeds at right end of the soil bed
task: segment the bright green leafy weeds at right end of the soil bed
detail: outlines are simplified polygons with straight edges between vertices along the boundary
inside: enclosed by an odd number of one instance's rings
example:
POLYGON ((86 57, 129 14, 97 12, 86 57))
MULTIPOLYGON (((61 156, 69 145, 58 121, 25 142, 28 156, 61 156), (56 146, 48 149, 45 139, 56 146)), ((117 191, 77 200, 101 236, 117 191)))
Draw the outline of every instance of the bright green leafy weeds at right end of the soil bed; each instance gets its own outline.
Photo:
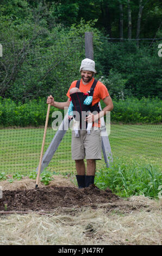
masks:
POLYGON ((96 186, 105 190, 109 187, 121 197, 139 196, 158 198, 162 182, 160 169, 151 164, 142 164, 133 160, 126 163, 115 159, 109 168, 96 173, 96 186))

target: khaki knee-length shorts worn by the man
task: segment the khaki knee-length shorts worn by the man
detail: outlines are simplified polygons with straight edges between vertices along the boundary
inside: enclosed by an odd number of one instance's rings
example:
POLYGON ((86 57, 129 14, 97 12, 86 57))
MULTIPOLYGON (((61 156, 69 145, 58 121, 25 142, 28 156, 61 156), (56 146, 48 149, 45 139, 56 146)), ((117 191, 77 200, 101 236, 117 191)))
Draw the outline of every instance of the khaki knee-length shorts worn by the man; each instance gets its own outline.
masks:
POLYGON ((79 137, 76 138, 72 131, 72 159, 101 160, 102 138, 100 133, 100 129, 94 130, 92 127, 90 135, 87 135, 86 130, 79 130, 79 137))

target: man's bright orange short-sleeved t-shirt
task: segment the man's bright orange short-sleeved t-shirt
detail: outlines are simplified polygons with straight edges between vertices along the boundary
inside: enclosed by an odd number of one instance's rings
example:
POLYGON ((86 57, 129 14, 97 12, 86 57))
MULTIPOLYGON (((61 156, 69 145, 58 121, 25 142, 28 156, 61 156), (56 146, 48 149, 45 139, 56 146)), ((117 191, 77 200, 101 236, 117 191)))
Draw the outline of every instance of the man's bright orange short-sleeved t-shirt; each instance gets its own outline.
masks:
MULTIPOLYGON (((88 84, 83 84, 82 82, 82 79, 80 80, 80 86, 79 86, 79 90, 82 92, 82 93, 87 93, 92 84, 94 83, 94 80, 95 78, 93 77, 92 80, 88 83, 88 84)), ((70 89, 73 88, 73 87, 76 87, 76 84, 77 84, 77 80, 76 81, 73 81, 70 88, 68 89, 68 92, 67 92, 67 97, 70 98, 70 89)), ((96 87, 94 89, 94 95, 93 95, 93 100, 92 100, 92 106, 94 106, 97 102, 99 102, 101 99, 104 100, 105 97, 109 96, 109 93, 108 93, 108 89, 104 86, 103 83, 101 83, 100 81, 97 82, 96 84, 96 87)), ((94 125, 93 125, 94 126, 94 125)), ((98 122, 96 123, 95 122, 95 126, 98 127, 98 122)), ((100 124, 99 124, 100 126, 100 124)))

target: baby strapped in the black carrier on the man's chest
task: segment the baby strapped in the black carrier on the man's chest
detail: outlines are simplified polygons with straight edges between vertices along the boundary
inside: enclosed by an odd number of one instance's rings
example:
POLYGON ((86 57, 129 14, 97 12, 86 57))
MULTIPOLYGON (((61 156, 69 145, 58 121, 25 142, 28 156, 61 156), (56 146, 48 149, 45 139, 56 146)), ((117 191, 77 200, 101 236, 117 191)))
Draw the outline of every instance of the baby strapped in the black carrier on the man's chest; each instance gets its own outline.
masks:
MULTIPOLYGON (((79 137, 79 127, 80 121, 82 121, 82 111, 85 111, 86 114, 90 112, 90 107, 92 103, 92 96, 89 96, 88 93, 82 93, 77 87, 74 87, 70 90, 71 102, 68 107, 68 119, 72 119, 74 121, 73 130, 76 137, 79 137), (76 115, 74 118, 73 111, 77 111, 79 113, 79 117, 76 115)), ((92 128, 92 122, 87 124, 86 131, 87 134, 90 135, 92 128)))

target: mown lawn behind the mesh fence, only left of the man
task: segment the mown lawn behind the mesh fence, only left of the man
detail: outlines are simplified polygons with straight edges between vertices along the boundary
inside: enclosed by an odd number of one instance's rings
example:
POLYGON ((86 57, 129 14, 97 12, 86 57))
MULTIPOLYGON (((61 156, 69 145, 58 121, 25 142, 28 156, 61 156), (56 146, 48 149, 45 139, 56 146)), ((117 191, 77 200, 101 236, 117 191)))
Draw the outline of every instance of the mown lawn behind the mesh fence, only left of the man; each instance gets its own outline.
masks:
MULTIPOLYGON (((1 162, 0 172, 12 174, 21 172, 24 174, 35 170, 39 164, 39 157, 43 138, 42 128, 19 128, 19 129, 4 129, 0 130, 1 140, 0 154, 1 162)), ((47 130, 46 143, 44 153, 52 141, 55 131, 51 128, 47 130)), ((70 131, 66 133, 61 142, 51 165, 53 170, 61 171, 65 168, 66 163, 68 169, 73 165, 72 161, 68 161, 71 151, 70 131), (60 167, 60 168, 59 168, 60 167)), ((71 160, 71 158, 70 158, 71 160)))

